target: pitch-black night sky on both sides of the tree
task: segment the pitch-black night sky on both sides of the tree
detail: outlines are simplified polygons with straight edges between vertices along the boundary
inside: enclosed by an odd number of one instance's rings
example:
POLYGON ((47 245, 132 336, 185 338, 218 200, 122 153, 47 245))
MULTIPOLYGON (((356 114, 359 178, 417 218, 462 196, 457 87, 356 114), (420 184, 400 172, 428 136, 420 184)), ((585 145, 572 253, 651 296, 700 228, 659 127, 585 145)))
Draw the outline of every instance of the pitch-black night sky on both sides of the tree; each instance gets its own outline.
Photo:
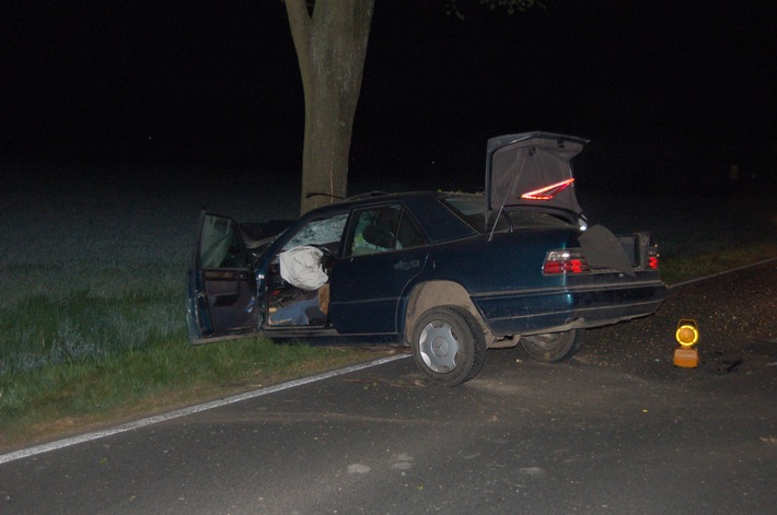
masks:
MULTIPOLYGON (((546 4, 376 0, 351 179, 480 183, 487 138, 547 130, 593 187, 775 183, 777 2, 546 4)), ((299 174, 302 130, 278 0, 0 0, 0 159, 299 174)))

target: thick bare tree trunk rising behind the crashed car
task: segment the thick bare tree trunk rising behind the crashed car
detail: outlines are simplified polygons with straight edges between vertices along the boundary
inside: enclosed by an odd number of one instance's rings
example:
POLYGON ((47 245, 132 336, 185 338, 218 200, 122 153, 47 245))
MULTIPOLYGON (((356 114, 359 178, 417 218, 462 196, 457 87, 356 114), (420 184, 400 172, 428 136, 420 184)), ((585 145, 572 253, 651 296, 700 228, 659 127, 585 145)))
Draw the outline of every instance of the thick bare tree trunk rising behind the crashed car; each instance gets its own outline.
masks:
POLYGON ((286 0, 302 74, 305 134, 302 213, 345 197, 353 116, 359 102, 374 0, 286 0))

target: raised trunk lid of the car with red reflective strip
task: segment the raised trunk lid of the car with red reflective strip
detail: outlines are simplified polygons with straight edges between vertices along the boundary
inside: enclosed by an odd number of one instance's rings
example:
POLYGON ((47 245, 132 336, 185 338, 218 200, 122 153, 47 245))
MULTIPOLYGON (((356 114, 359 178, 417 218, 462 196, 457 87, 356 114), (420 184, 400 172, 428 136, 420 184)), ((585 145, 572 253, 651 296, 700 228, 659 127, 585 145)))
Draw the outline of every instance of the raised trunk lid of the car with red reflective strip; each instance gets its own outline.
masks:
POLYGON ((588 140, 524 132, 488 140, 486 211, 517 206, 559 208, 580 214, 572 157, 588 140))

